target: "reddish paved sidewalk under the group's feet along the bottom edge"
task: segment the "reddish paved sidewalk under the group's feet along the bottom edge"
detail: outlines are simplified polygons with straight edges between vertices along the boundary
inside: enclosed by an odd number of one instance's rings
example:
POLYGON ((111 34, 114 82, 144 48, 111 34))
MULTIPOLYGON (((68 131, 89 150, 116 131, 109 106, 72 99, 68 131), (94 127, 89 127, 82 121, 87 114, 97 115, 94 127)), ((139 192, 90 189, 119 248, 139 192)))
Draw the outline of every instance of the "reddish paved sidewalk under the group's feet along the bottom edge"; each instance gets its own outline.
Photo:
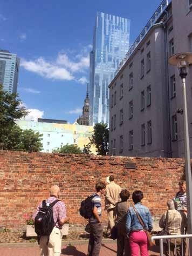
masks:
MULTIPOLYGON (((61 255, 67 256, 85 256, 87 253, 87 244, 81 245, 67 245, 62 247, 61 255)), ((35 247, 1 247, 1 256, 39 256, 39 248, 35 247)), ((102 244, 100 256, 115 256, 116 255, 116 243, 102 244)), ((150 252, 151 256, 159 255, 159 253, 150 252)))

